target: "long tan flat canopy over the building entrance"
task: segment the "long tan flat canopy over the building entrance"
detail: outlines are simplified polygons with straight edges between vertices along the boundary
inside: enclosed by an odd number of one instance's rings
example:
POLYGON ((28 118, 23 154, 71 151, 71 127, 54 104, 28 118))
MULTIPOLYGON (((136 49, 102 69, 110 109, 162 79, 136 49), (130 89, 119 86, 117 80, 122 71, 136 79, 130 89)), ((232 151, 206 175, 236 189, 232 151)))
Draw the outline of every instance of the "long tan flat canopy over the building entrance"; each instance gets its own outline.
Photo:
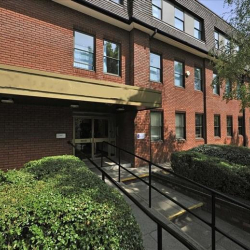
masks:
POLYGON ((1 64, 0 93, 146 108, 161 107, 161 92, 153 89, 1 64))

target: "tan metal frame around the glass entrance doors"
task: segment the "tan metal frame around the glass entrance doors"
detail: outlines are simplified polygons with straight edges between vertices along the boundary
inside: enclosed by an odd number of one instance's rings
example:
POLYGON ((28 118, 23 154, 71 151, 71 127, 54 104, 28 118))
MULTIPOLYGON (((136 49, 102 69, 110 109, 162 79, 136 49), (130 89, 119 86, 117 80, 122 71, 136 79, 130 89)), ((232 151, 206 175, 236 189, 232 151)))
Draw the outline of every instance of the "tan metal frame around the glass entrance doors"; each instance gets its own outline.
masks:
MULTIPOLYGON (((91 143, 91 159, 98 159, 100 157, 95 157, 95 143, 97 142, 102 142, 104 140, 107 140, 108 142, 115 142, 116 144, 116 120, 115 120, 115 116, 114 115, 111 115, 111 114, 96 114, 96 115, 80 115, 80 114, 77 114, 77 115, 73 115, 73 144, 75 145, 76 144, 76 140, 81 140, 81 142, 77 142, 77 144, 79 143, 91 143), (91 135, 92 137, 91 138, 86 138, 86 139, 75 139, 75 118, 83 118, 83 119, 91 119, 92 122, 91 122, 91 135), (94 138, 94 120, 95 119, 104 119, 104 120, 108 120, 108 138, 94 138), (114 136, 115 137, 112 137, 111 138, 111 123, 114 123, 114 136)), ((114 152, 114 154, 116 155, 116 152, 114 152)), ((73 155, 75 155, 75 148, 73 148, 73 155)), ((108 156, 111 156, 111 149, 110 147, 108 147, 108 156)))

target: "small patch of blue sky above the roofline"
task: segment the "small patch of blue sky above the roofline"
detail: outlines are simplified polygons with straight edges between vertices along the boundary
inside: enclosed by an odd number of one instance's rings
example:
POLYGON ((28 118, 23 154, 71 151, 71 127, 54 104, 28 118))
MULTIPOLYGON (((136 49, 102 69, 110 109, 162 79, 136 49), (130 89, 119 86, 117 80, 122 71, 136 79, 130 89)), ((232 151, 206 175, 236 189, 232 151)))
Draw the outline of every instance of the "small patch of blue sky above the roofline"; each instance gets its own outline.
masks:
POLYGON ((228 21, 230 8, 224 5, 224 0, 199 0, 202 4, 206 5, 209 9, 215 12, 220 17, 228 21))

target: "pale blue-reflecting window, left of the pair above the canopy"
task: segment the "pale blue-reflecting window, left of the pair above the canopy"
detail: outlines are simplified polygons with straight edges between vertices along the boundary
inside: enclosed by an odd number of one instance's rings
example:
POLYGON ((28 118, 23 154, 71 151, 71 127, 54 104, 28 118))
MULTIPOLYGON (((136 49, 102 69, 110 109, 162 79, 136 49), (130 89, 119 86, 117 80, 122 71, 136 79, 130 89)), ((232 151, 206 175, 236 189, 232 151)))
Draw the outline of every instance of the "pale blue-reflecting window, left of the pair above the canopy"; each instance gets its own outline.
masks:
POLYGON ((94 70, 94 37, 75 31, 74 67, 94 70))

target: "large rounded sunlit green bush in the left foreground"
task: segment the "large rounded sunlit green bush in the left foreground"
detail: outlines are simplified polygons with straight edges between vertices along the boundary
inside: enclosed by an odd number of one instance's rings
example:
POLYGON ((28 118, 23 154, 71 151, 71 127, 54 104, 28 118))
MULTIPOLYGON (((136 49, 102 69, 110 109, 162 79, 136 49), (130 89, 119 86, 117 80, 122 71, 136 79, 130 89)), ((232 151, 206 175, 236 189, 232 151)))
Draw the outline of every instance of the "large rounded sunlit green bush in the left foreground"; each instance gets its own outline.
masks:
POLYGON ((1 249, 143 249, 123 197, 78 158, 47 157, 1 175, 1 249))

